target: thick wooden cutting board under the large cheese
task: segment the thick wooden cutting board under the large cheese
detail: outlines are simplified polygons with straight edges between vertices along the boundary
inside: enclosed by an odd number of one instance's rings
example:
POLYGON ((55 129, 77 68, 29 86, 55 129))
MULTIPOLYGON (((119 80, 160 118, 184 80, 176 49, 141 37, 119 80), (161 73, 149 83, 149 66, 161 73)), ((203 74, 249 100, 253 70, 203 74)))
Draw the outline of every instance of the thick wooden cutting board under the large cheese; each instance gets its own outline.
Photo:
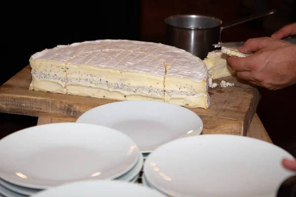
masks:
MULTIPOLYGON (((233 82, 235 86, 218 86, 209 90, 211 105, 208 109, 188 108, 203 121, 203 134, 223 133, 246 135, 259 103, 256 88, 228 76, 214 80, 233 82)), ((82 96, 30 91, 31 67, 23 70, 0 86, 0 112, 45 117, 65 121, 77 118, 94 107, 117 102, 82 96)))

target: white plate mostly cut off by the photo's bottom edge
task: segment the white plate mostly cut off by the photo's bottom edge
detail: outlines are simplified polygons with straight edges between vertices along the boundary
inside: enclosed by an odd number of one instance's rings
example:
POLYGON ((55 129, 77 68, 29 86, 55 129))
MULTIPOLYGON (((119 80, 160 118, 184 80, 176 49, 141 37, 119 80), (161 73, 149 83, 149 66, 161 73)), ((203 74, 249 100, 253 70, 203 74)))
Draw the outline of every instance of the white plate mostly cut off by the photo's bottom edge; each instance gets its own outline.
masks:
POLYGON ((49 188, 33 197, 165 197, 158 191, 122 181, 81 181, 49 188))

